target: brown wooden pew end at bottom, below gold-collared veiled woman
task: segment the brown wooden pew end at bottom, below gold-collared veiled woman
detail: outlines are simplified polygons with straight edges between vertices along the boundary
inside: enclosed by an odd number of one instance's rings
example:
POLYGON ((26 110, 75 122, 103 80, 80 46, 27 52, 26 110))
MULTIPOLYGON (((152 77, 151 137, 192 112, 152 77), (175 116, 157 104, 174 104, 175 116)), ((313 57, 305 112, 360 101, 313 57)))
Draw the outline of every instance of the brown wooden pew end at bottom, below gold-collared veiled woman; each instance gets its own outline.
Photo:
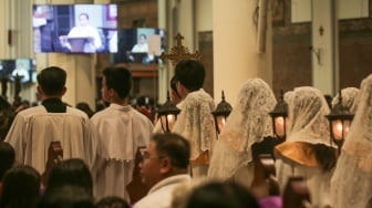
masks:
POLYGON ((293 176, 288 178, 283 193, 283 208, 309 208, 311 197, 303 177, 293 176))

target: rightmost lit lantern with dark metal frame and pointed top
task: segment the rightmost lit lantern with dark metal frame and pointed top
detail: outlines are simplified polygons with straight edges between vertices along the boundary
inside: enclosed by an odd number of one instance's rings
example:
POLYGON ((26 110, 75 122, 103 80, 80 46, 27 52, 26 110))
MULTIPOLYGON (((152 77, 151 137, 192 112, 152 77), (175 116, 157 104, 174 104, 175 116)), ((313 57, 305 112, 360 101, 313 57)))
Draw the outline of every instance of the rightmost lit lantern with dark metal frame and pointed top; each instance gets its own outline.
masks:
POLYGON ((330 123, 331 142, 334 142, 340 150, 354 115, 347 106, 342 105, 341 91, 339 93, 339 103, 332 107, 327 118, 330 123))

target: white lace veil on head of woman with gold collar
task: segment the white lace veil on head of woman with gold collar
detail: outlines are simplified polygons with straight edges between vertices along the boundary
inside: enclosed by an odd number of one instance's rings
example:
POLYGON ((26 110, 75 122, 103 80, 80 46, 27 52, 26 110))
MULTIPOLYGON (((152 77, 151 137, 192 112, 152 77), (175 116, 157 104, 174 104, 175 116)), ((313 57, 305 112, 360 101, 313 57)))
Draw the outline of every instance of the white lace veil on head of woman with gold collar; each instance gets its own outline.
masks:
POLYGON ((287 142, 306 142, 331 146, 329 123, 330 110, 321 91, 311 86, 294 89, 288 103, 287 142))

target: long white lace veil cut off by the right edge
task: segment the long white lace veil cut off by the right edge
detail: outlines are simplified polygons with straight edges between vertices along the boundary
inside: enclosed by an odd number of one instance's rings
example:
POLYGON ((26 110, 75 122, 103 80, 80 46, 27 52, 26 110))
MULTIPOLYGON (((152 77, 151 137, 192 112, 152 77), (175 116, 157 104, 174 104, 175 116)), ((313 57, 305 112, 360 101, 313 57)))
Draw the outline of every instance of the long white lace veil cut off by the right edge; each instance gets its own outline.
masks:
POLYGON ((331 180, 333 206, 371 207, 372 74, 361 83, 360 102, 331 180))

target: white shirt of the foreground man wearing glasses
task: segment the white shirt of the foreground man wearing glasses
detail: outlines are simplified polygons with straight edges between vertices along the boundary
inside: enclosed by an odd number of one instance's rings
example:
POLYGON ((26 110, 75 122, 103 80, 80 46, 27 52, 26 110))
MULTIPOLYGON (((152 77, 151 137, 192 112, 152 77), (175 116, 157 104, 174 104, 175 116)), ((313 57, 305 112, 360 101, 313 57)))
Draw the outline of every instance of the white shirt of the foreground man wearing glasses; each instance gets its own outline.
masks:
POLYGON ((170 176, 155 184, 147 196, 136 202, 133 208, 170 208, 173 191, 184 183, 190 183, 187 174, 170 176))

